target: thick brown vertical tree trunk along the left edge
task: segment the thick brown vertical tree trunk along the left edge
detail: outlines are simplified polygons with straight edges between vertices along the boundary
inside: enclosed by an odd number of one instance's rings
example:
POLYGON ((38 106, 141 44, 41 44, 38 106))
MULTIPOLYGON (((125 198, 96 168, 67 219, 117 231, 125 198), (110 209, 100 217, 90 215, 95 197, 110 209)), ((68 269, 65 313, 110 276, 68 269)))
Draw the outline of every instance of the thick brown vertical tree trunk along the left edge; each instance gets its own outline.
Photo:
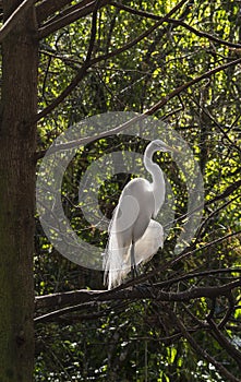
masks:
MULTIPOLYGON (((20 0, 3 0, 4 20, 20 0)), ((37 41, 34 7, 2 44, 0 124, 0 381, 33 380, 34 152, 37 41)))

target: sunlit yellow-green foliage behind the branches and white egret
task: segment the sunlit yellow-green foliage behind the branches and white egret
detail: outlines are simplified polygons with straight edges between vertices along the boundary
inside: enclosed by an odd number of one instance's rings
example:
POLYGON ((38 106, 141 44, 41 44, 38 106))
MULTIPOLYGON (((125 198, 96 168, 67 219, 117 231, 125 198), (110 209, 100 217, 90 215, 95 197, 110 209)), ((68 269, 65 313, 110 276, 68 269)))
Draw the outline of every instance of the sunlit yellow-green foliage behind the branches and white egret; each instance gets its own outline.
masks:
MULTIPOLYGON (((164 16, 177 1, 122 3, 130 9, 111 2, 98 10, 92 52, 96 63, 65 99, 40 120, 39 151, 47 150, 62 131, 87 116, 112 110, 144 112, 178 86, 240 56, 240 48, 224 43, 240 40, 238 1, 189 1, 172 15, 174 21, 169 19, 155 28, 153 25, 158 22, 155 16, 164 16), (146 38, 135 41, 152 27, 146 38), (135 43, 115 55, 130 41, 135 43)), ((89 14, 41 40, 40 110, 55 102, 84 64, 93 22, 89 14)), ((181 229, 180 225, 170 232, 164 251, 143 267, 143 272, 150 272, 152 285, 162 283, 161 290, 174 294, 222 286, 240 277, 241 198, 236 186, 241 171, 240 80, 240 64, 230 67, 188 87, 156 112, 193 148, 204 178, 206 202, 202 226, 189 248, 193 251, 191 255, 162 271, 164 263, 172 261, 176 229, 181 229), (226 235, 229 237, 225 238, 226 235), (152 276, 152 270, 158 273, 152 276)), ((77 153, 62 184, 64 212, 72 227, 80 237, 103 249, 107 232, 89 226, 84 218, 77 187, 96 158, 120 147, 142 153, 145 143, 133 142, 130 136, 95 141, 77 153)), ((172 179, 173 192, 178 194, 177 217, 181 217, 186 213, 185 187, 167 157, 157 156, 156 162, 172 179)), ((99 188, 99 205, 107 218, 130 178, 118 174, 99 188)), ((37 220, 38 296, 81 288, 103 289, 101 278, 100 272, 84 270, 63 259, 48 242, 37 220)), ((241 344, 240 301, 241 290, 237 287, 217 298, 179 302, 142 298, 83 305, 56 320, 37 324, 35 380, 228 381, 227 374, 221 374, 222 370, 205 358, 205 351, 238 380, 240 362, 233 353, 241 344)), ((44 313, 45 309, 38 311, 38 315, 44 313)))

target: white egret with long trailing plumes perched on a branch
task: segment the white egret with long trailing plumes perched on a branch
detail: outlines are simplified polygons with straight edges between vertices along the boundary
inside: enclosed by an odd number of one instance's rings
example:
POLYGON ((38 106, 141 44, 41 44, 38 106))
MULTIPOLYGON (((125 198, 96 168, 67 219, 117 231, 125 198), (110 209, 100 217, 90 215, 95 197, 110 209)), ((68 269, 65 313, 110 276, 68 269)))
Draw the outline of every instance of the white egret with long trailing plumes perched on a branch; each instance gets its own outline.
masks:
POLYGON ((164 246, 164 230, 155 218, 165 201, 165 179, 153 162, 157 151, 173 151, 160 140, 152 141, 144 153, 144 166, 153 182, 132 179, 122 190, 109 224, 109 239, 104 260, 104 283, 108 289, 122 283, 136 265, 146 262, 164 246))

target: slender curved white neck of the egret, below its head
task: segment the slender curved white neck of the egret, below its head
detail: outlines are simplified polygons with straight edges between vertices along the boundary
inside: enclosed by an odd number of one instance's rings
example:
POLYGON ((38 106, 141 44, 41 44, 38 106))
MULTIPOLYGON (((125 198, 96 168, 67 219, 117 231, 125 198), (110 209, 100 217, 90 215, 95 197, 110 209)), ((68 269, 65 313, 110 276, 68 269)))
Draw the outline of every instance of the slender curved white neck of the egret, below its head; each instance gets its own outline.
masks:
POLYGON ((164 179, 164 172, 161 171, 159 166, 153 162, 153 155, 155 152, 156 150, 147 146, 144 154, 144 166, 153 177, 152 187, 153 187, 153 193, 155 199, 155 216, 156 216, 165 201, 165 179, 164 179))

